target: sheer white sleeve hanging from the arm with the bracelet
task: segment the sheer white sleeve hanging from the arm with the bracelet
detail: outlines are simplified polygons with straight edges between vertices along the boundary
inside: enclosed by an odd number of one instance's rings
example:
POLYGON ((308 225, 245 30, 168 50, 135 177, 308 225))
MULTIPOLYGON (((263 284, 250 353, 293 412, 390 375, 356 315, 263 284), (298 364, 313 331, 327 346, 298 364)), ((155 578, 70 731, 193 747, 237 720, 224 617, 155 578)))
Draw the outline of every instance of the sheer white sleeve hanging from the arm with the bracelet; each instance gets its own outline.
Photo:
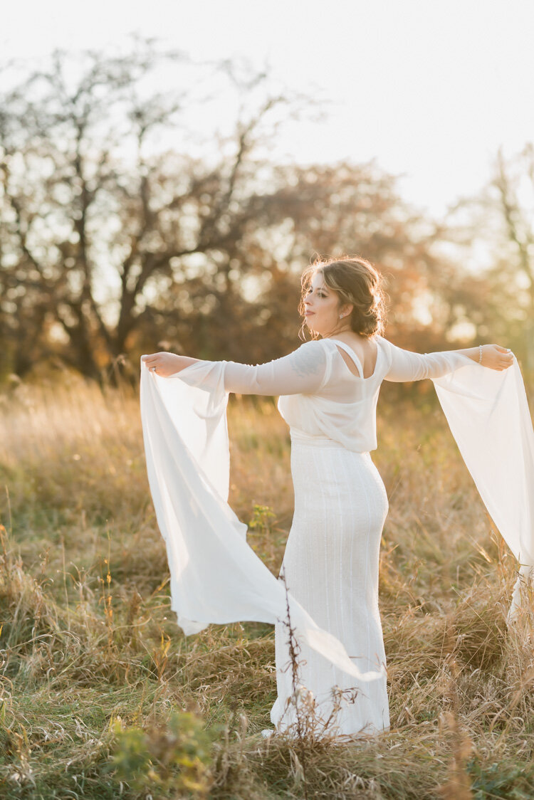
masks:
POLYGON ((510 623, 534 586, 534 430, 517 359, 491 370, 455 350, 419 354, 382 341, 386 380, 432 378, 480 498, 519 562, 510 623))

